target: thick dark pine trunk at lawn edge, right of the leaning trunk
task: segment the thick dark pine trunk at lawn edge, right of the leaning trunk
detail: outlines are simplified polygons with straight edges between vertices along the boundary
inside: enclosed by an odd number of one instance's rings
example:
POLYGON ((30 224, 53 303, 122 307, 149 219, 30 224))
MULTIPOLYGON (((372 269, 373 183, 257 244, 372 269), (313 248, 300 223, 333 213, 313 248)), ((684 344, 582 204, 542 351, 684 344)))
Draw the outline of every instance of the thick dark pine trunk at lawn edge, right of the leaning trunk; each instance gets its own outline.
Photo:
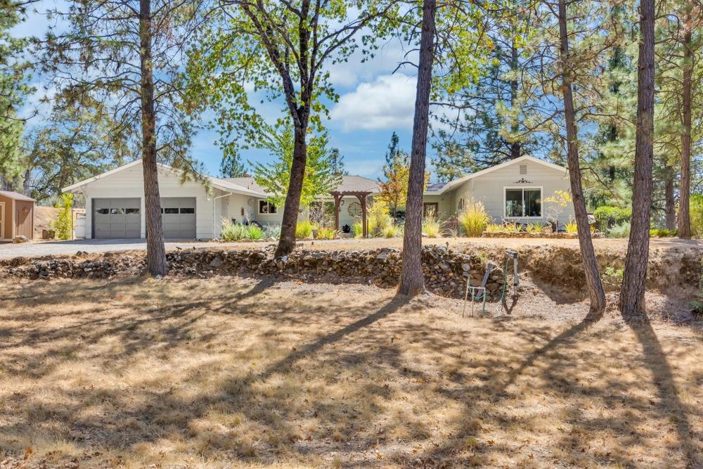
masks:
POLYGON ((646 313, 645 283, 650 254, 654 142, 654 0, 640 1, 637 68, 637 133, 632 220, 619 305, 626 319, 641 318, 646 313))

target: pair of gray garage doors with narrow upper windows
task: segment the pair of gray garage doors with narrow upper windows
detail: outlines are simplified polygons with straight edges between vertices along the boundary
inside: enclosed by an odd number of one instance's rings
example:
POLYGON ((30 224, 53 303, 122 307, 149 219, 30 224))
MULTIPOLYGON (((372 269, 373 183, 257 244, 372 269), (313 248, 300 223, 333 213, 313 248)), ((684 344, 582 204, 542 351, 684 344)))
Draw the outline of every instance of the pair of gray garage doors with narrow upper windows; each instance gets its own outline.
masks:
MULTIPOLYGON (((94 198, 93 238, 141 238, 141 198, 94 198)), ((164 238, 195 238, 195 198, 161 199, 164 238)))

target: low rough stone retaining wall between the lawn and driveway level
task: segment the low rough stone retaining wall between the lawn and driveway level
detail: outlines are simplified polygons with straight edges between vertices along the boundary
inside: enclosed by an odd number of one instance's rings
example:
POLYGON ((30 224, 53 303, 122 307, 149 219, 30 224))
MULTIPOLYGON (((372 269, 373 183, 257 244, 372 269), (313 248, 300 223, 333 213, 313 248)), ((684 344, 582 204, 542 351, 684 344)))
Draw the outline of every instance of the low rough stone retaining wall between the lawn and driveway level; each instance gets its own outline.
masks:
MULTIPOLYGON (((479 285, 486 262, 479 257, 455 252, 444 246, 423 246, 423 269, 427 289, 446 297, 463 297, 466 278, 479 285)), ((87 253, 72 257, 26 259, 18 257, 0 263, 0 278, 109 278, 139 276, 146 269, 143 253, 107 252, 86 259, 87 253)), ((382 248, 366 251, 295 250, 288 258, 274 259, 273 247, 244 250, 181 250, 167 254, 169 274, 183 278, 239 275, 299 279, 302 281, 371 283, 380 287, 397 285, 401 252, 382 248)), ((486 289, 498 297, 503 269, 494 267, 486 289)))

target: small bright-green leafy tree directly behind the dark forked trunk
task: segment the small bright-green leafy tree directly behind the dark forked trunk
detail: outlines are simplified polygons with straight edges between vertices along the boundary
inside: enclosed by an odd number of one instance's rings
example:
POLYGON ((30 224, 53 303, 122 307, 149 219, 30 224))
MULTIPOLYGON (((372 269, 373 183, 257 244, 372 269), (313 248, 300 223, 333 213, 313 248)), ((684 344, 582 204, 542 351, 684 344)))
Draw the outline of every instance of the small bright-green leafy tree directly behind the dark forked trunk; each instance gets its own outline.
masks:
MULTIPOLYGON (((290 170, 295 152, 295 131, 291 125, 282 129, 269 129, 270 138, 263 142, 262 148, 271 150, 278 158, 273 163, 249 162, 254 171, 254 180, 272 195, 269 202, 277 207, 283 206, 288 194, 290 170)), ((327 148, 327 133, 309 137, 305 175, 300 191, 300 203, 310 205, 321 195, 329 195, 342 184, 342 175, 335 172, 334 154, 327 148)))

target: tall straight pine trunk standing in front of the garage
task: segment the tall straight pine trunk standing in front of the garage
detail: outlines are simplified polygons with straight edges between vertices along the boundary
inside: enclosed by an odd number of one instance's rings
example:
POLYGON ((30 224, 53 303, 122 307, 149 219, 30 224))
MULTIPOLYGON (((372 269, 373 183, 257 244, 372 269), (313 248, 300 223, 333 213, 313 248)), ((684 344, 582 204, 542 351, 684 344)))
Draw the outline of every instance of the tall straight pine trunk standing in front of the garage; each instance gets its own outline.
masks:
POLYGON ((146 219, 146 266, 149 274, 168 272, 164 230, 161 220, 159 172, 156 164, 156 114, 154 110, 154 71, 151 56, 151 0, 139 1, 141 66, 141 158, 144 172, 146 219))

